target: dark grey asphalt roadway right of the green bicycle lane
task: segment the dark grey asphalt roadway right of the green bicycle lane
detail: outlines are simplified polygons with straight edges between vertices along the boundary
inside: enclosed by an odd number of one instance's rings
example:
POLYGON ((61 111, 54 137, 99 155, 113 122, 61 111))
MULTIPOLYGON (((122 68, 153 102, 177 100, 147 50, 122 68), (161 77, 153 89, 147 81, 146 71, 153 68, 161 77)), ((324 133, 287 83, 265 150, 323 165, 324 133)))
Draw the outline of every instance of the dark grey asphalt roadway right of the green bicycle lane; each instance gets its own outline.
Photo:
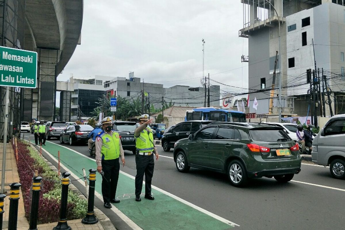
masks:
MULTIPOLYGON (((63 146, 88 156, 86 145, 63 146)), ((239 229, 344 229, 345 180, 333 179, 329 168, 303 163, 289 183, 260 178, 235 188, 225 174, 194 168, 180 173, 172 150, 164 152, 158 146, 158 151, 152 185, 239 224, 239 229)), ((135 156, 125 151, 125 160, 120 170, 135 176, 135 156)))

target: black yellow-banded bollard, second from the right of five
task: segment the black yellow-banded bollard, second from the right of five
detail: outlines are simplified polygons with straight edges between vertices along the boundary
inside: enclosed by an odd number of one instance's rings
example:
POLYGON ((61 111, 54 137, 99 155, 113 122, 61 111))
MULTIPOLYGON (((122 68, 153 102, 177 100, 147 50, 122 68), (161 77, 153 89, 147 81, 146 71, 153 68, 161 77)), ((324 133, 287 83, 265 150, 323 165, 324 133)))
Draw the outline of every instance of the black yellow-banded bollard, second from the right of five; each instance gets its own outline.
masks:
POLYGON ((60 218, 58 225, 53 228, 53 230, 70 230, 71 227, 67 224, 67 198, 68 198, 68 186, 69 186, 69 176, 71 173, 63 172, 61 179, 61 207, 60 207, 60 218))

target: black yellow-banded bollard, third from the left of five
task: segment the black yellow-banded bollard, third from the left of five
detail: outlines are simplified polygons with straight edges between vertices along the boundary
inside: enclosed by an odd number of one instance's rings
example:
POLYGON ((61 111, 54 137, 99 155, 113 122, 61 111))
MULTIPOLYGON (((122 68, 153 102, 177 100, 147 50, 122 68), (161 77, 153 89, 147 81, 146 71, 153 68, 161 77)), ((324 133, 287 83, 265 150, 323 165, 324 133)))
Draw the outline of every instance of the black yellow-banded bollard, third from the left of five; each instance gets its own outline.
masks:
POLYGON ((42 180, 42 177, 32 178, 32 202, 31 202, 29 230, 37 230, 38 201, 40 199, 41 180, 42 180))

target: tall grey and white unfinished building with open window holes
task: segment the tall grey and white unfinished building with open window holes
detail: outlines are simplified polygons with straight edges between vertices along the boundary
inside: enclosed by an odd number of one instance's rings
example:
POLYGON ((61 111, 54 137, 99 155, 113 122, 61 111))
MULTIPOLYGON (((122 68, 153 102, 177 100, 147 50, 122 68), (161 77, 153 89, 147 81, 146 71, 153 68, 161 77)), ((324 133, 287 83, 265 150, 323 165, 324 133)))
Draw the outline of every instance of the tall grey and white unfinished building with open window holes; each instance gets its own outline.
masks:
POLYGON ((273 113, 278 107, 282 114, 299 116, 345 113, 345 1, 241 2, 239 37, 248 39, 249 48, 242 61, 248 62, 249 96, 250 101, 254 97, 258 101, 256 112, 269 112, 274 89, 273 113))

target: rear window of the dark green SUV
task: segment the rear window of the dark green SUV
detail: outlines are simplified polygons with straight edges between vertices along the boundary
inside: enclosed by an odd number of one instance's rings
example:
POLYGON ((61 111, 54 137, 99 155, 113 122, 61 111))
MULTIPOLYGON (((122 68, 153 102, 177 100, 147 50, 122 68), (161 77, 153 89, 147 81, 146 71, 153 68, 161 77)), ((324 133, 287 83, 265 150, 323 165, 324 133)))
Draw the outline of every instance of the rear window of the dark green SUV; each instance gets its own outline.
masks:
POLYGON ((249 130, 249 134, 255 141, 280 142, 291 140, 282 129, 251 129, 249 130))

